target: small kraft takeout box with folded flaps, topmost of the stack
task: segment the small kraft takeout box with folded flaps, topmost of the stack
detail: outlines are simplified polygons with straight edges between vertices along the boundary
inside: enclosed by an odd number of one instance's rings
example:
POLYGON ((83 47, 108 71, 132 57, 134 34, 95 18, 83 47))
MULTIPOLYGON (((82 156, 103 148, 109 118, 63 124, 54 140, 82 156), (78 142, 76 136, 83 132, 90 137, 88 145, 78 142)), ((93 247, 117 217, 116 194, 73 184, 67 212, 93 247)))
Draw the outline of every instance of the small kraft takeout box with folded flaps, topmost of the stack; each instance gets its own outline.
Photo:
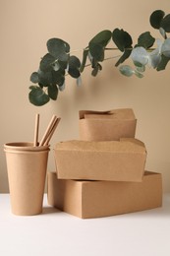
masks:
POLYGON ((135 138, 137 119, 131 108, 81 110, 79 115, 81 140, 115 141, 120 138, 135 138))

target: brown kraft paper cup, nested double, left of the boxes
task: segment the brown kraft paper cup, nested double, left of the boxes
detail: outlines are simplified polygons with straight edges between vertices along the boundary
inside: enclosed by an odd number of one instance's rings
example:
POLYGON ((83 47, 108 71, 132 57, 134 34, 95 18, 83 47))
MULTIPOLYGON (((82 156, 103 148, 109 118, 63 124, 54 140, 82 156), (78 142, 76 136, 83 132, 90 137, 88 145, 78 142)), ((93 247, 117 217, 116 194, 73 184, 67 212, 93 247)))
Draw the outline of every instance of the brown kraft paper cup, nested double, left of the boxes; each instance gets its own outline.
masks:
POLYGON ((12 213, 19 216, 40 214, 49 146, 33 147, 32 143, 8 143, 4 145, 4 151, 12 213))

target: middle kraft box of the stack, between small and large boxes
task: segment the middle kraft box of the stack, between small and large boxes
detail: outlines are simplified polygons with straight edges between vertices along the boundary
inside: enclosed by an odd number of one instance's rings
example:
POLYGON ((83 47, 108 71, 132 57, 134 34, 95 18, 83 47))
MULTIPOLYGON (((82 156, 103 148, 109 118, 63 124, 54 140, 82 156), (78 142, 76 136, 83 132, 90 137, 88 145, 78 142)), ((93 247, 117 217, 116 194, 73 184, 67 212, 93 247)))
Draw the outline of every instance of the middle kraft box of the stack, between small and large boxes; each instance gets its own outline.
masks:
POLYGON ((57 143, 54 152, 61 179, 142 181, 146 150, 137 139, 66 141, 57 143))

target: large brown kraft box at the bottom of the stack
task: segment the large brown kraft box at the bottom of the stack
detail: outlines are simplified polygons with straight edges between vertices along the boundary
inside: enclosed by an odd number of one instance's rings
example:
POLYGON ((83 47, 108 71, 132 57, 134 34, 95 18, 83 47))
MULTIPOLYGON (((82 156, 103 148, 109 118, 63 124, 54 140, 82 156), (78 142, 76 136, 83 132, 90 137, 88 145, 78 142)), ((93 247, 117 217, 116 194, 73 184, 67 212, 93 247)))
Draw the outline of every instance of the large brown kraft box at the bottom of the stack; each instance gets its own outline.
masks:
POLYGON ((128 214, 162 206, 162 177, 145 171, 142 182, 57 179, 48 172, 48 204, 88 219, 128 214))

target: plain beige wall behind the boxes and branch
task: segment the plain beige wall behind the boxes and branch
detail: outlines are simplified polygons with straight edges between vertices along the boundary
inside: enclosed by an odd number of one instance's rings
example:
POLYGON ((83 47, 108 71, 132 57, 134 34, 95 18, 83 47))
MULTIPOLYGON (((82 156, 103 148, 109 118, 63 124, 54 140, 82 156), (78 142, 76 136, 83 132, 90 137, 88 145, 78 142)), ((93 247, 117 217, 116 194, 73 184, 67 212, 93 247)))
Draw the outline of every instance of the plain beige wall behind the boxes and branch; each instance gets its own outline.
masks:
MULTIPOLYGON (((137 137, 147 148, 146 168, 163 174, 164 191, 170 191, 170 85, 169 71, 146 72, 142 80, 125 78, 114 67, 103 64, 97 78, 90 69, 77 88, 67 79, 67 89, 57 101, 35 107, 28 102, 29 75, 38 68, 46 52, 46 41, 60 37, 72 49, 82 49, 102 30, 124 29, 135 39, 150 30, 149 15, 156 9, 169 12, 169 1, 115 0, 0 0, 0 192, 8 191, 3 144, 31 141, 34 115, 40 113, 40 133, 52 114, 62 117, 53 140, 79 138, 80 109, 107 110, 132 107, 138 118, 137 137)), ((152 34, 159 37, 158 32, 152 34)), ((55 167, 51 150, 48 169, 55 167)))

